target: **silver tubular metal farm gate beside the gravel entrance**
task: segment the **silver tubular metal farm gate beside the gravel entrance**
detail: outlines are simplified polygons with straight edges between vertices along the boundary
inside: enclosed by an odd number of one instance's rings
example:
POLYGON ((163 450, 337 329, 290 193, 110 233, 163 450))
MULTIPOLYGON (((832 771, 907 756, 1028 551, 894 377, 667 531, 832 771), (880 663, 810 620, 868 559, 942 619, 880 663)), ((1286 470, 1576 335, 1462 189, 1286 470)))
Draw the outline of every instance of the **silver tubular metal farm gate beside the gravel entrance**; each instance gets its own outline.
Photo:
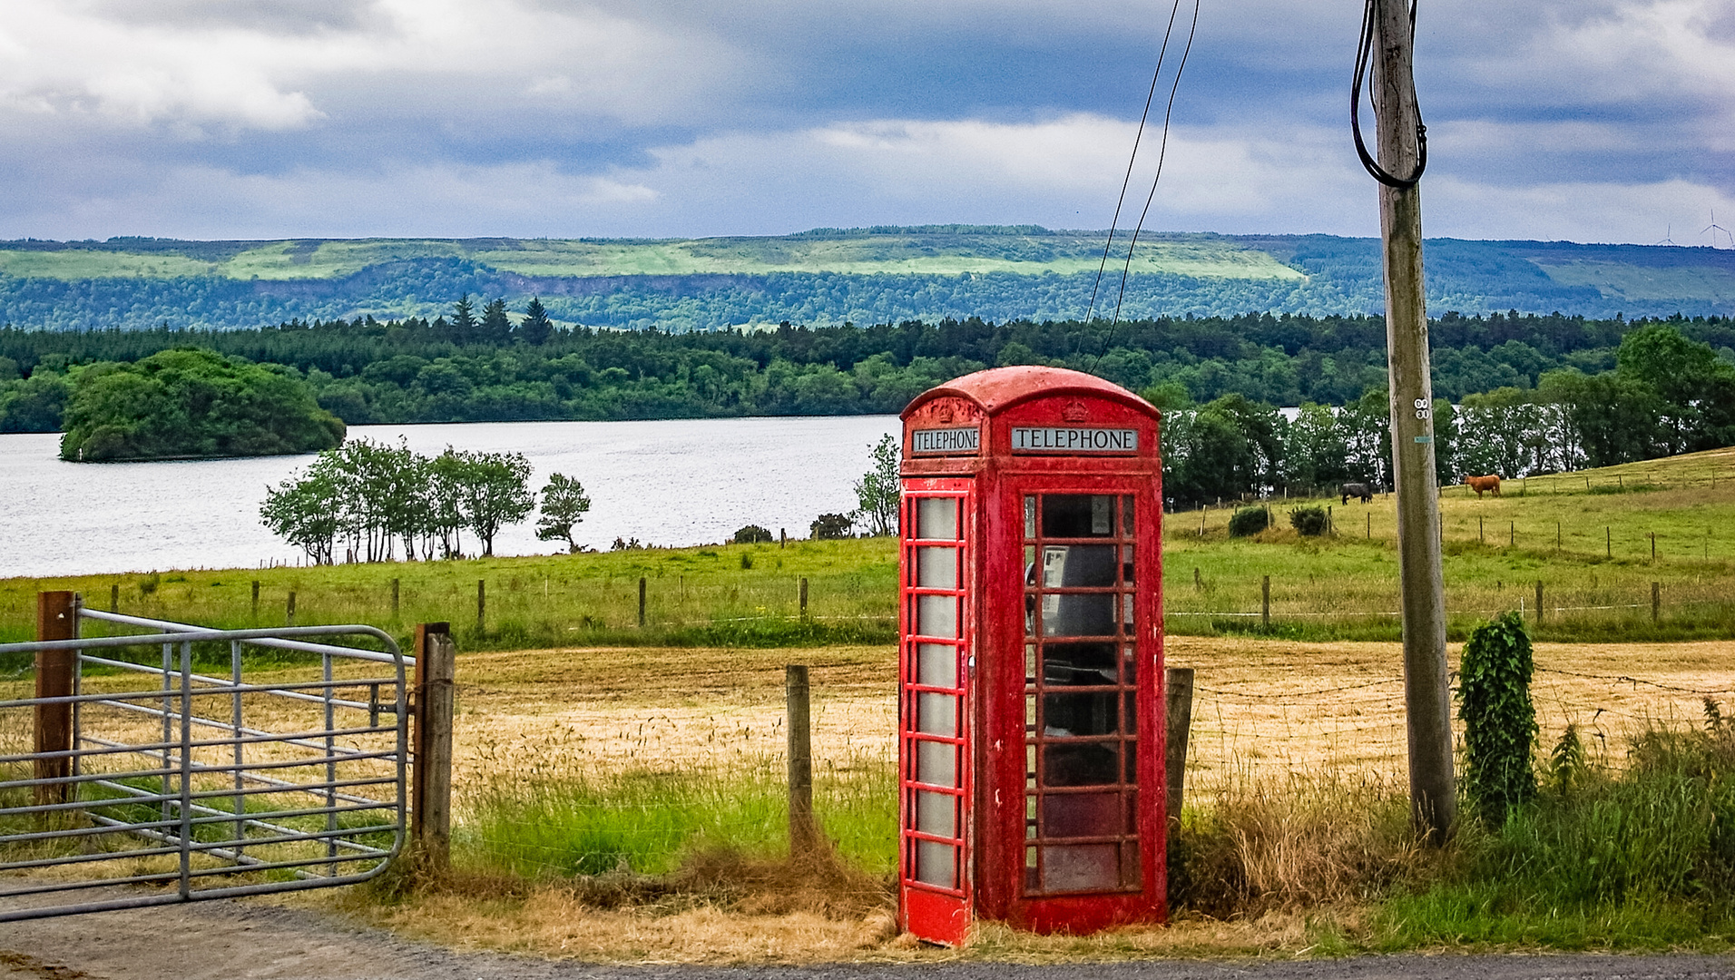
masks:
POLYGON ((0 645, 0 666, 36 656, 35 690, 0 675, 0 923, 349 885, 399 853, 413 661, 392 637, 42 602, 49 638, 0 645))

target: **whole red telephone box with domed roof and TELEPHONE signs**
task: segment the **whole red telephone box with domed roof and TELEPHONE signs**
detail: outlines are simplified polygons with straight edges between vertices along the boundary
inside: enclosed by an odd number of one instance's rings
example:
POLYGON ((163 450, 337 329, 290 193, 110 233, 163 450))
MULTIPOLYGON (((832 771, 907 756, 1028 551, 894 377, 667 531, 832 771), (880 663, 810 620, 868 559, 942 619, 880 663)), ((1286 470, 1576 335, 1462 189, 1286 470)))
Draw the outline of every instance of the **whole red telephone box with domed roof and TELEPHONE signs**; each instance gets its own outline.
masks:
POLYGON ((1157 409, 996 368, 902 418, 900 924, 1161 921, 1157 409))

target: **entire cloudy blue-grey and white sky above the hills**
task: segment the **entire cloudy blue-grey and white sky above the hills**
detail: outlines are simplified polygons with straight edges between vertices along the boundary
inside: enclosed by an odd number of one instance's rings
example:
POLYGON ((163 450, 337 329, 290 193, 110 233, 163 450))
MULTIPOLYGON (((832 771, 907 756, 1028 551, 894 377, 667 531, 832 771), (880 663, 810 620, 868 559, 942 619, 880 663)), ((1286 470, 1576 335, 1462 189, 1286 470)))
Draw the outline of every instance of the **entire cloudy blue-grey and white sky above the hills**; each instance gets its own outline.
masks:
MULTIPOLYGON (((0 0, 0 238, 1107 227, 1171 7, 0 0)), ((1147 227, 1374 234, 1359 17, 1201 0, 1147 227)), ((1430 236, 1735 246, 1735 0, 1423 0, 1417 87, 1430 236)))

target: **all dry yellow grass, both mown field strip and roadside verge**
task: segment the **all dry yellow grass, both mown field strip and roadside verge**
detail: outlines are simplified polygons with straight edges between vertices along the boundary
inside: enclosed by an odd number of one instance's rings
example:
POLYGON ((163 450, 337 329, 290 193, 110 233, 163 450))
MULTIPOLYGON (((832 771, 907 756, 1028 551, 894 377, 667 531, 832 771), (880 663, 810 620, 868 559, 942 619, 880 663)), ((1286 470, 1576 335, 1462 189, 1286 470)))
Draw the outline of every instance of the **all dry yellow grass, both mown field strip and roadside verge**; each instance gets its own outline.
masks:
MULTIPOLYGON (((1735 645, 1542 644, 1534 697, 1542 737, 1577 722, 1601 735, 1610 761, 1647 720, 1700 716, 1700 690, 1735 689, 1735 645), (1579 676, 1593 675, 1593 676, 1579 676), (1631 676, 1634 682, 1612 682, 1631 676), (1648 683, 1643 683, 1648 682, 1648 683)), ((1378 796, 1404 779, 1402 650, 1397 644, 1294 644, 1282 640, 1173 637, 1168 657, 1199 671, 1188 758, 1192 800, 1211 805, 1237 791, 1241 817, 1263 794, 1272 841, 1296 820, 1331 826, 1343 838, 1336 859, 1357 855, 1386 834, 1376 817, 1345 822, 1308 810, 1291 777, 1329 774, 1378 796), (1247 791, 1253 789, 1254 796, 1247 791), (1369 824, 1369 826, 1362 826, 1369 824)), ((1456 663, 1457 647, 1450 650, 1456 663)), ((569 765, 706 768, 765 758, 782 748, 782 664, 814 675, 814 755, 885 765, 895 756, 895 652, 890 647, 821 650, 527 650, 467 654, 460 661, 460 793, 465 779, 503 758, 569 756, 569 765), (573 758, 578 756, 578 758, 573 758)), ((1343 796, 1320 793, 1327 805, 1343 796)), ((1263 810, 1261 810, 1263 812, 1263 810)), ((573 888, 531 886, 477 898, 458 886, 403 905, 352 904, 356 914, 409 935, 479 949, 510 949, 597 963, 815 963, 1005 959, 1024 963, 1178 954, 1305 954, 1322 935, 1355 931, 1362 909, 1345 878, 1317 879, 1319 862, 1286 855, 1242 827, 1241 867, 1249 892, 1294 898, 1306 871, 1305 914, 1284 907, 1253 919, 1183 918, 1161 928, 1097 937, 1031 937, 984 926, 970 947, 935 951, 894 938, 883 912, 821 916, 701 898, 599 909, 573 888), (1324 902, 1324 904, 1319 904, 1324 902)), ((1386 834, 1390 836, 1390 834, 1386 834)), ((1312 840, 1312 838, 1308 838, 1312 840)), ((1313 841, 1320 843, 1320 841, 1313 841)), ((1402 848, 1400 848, 1402 850, 1402 848)), ((1388 857, 1388 855, 1386 855, 1388 857)), ((1367 853, 1365 860, 1385 859, 1367 853)), ((1353 867, 1348 867, 1353 871, 1353 867)))

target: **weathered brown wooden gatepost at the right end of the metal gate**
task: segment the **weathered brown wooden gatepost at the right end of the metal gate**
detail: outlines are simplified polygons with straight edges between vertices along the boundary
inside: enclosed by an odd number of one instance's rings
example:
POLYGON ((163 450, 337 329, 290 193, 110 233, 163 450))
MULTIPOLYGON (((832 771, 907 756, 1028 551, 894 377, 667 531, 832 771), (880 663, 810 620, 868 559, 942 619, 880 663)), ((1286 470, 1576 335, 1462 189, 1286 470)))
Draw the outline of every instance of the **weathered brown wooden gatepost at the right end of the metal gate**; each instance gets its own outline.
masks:
POLYGON ((449 623, 415 631, 415 741, 411 749, 409 834, 429 866, 451 859, 451 716, 456 704, 458 647, 449 623))

